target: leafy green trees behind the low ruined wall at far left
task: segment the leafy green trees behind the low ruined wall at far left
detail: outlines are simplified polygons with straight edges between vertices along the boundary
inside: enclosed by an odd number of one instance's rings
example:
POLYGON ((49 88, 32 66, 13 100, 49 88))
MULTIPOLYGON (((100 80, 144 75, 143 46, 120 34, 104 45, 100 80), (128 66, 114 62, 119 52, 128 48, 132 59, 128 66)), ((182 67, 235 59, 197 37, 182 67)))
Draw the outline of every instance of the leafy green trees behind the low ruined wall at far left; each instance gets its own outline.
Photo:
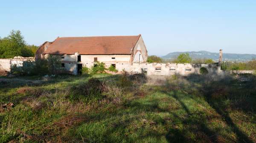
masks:
POLYGON ((27 46, 20 31, 12 30, 7 37, 0 38, 0 58, 35 56, 35 47, 27 46))

